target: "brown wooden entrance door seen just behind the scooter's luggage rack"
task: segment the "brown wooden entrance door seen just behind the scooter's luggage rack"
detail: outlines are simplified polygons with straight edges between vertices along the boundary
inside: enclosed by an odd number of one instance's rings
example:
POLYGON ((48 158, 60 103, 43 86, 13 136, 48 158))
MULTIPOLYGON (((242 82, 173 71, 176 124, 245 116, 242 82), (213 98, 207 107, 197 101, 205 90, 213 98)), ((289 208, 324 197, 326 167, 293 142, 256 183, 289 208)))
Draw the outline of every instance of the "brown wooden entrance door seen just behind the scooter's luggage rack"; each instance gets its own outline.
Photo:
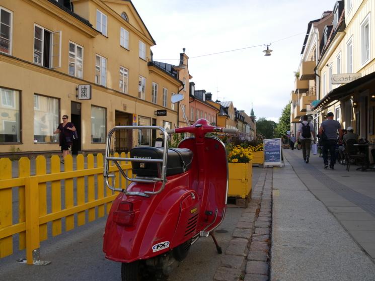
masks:
MULTIPOLYGON (((130 126, 132 125, 133 115, 116 111, 115 124, 116 126, 130 126)), ((132 130, 118 130, 115 132, 115 152, 129 152, 132 147, 133 133, 132 130)))

